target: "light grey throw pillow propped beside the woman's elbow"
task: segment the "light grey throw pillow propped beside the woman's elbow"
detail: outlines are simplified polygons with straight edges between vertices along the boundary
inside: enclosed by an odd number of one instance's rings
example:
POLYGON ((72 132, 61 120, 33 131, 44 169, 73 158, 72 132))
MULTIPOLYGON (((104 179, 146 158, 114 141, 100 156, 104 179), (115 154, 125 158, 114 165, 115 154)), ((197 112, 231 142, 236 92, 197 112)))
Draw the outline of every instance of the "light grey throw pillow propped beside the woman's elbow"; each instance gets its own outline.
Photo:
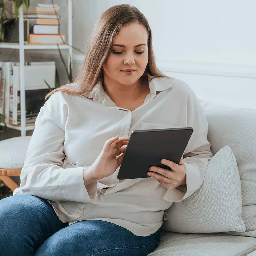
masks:
POLYGON ((234 154, 225 146, 209 161, 202 186, 167 210, 168 220, 162 229, 180 233, 244 232, 241 212, 239 171, 234 154))

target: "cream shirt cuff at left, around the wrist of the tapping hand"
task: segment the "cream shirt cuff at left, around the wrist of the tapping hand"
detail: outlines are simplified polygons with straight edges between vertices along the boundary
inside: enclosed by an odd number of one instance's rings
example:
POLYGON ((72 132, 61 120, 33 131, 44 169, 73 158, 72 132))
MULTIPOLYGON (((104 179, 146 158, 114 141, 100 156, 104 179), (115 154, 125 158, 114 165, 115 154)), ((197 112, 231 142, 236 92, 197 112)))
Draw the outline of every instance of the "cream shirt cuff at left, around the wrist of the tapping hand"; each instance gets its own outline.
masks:
POLYGON ((68 201, 94 203, 97 194, 97 182, 84 186, 84 167, 63 169, 66 171, 60 181, 60 189, 63 197, 68 201))

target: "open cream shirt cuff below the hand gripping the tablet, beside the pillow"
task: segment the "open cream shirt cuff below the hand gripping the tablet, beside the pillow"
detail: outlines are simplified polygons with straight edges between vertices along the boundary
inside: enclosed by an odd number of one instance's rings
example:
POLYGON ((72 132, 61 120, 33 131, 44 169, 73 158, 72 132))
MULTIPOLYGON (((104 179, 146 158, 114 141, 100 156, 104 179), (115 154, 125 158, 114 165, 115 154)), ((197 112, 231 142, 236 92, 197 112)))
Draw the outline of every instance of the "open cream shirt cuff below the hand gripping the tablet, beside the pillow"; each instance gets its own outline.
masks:
POLYGON ((202 185, 198 182, 200 180, 198 168, 187 163, 184 164, 186 166, 187 184, 168 189, 164 195, 164 200, 173 203, 180 202, 188 196, 191 196, 202 185))

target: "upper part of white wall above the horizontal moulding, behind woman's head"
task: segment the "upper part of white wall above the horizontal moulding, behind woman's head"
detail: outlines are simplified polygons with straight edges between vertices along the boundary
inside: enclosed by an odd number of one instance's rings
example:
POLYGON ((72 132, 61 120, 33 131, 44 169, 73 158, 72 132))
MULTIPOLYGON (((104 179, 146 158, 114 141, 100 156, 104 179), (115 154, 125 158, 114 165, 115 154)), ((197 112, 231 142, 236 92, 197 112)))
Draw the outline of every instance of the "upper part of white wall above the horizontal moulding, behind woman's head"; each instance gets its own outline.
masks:
POLYGON ((124 3, 148 19, 158 59, 256 64, 254 0, 74 0, 74 45, 84 49, 100 14, 124 3))

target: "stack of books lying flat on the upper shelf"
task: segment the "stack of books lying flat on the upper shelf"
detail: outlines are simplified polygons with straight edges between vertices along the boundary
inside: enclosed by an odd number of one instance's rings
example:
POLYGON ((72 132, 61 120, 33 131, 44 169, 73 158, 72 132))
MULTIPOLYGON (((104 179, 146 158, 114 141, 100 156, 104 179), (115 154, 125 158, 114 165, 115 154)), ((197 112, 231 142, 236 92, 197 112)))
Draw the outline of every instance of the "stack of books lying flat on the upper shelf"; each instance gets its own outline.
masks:
POLYGON ((30 5, 27 14, 30 27, 29 43, 62 44, 65 41, 65 35, 59 34, 59 10, 57 4, 30 5))

